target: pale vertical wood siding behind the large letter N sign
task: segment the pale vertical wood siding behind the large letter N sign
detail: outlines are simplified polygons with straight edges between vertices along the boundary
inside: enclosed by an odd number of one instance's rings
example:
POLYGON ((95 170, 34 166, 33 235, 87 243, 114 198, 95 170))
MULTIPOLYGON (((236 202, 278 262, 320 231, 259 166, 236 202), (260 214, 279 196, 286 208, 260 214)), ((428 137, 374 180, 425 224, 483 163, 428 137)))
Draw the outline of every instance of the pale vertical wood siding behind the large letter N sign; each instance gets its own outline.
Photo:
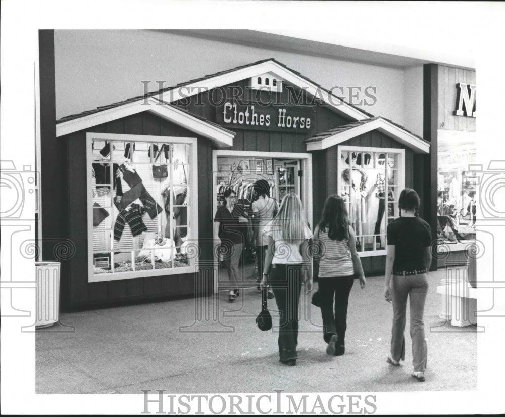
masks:
POLYGON ((475 85, 475 71, 438 66, 438 129, 475 132, 475 117, 455 116, 456 84, 475 85), (443 123, 443 126, 442 126, 443 123))

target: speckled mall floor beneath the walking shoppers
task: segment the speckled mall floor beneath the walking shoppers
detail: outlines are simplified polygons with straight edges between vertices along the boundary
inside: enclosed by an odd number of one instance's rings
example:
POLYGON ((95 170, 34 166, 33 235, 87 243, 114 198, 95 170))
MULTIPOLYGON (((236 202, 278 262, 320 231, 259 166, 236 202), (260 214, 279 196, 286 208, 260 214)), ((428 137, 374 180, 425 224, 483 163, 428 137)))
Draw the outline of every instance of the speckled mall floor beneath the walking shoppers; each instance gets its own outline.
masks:
MULTIPOLYGON (((328 356, 319 308, 300 302, 296 366, 279 362, 275 330, 255 324, 260 293, 245 265, 241 295, 175 300, 61 314, 60 323, 36 334, 37 394, 122 394, 141 389, 170 393, 383 392, 477 389, 477 329, 439 318, 436 286, 445 271, 430 273, 425 307, 428 370, 425 382, 410 376, 407 352, 400 367, 386 363, 391 305, 383 277, 350 293, 345 355, 328 356)), ((223 272, 222 272, 223 273, 223 272)), ((303 291, 303 290, 302 290, 303 291)), ((271 310, 274 300, 269 300, 271 310)), ((278 318, 274 315, 274 326, 278 318)))

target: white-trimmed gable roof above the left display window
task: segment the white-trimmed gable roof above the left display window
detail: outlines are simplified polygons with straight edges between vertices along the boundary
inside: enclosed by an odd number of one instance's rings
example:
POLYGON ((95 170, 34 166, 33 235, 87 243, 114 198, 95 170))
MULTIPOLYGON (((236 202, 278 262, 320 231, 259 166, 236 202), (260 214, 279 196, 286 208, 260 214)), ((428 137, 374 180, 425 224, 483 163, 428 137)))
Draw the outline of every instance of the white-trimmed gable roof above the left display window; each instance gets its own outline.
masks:
POLYGON ((94 112, 85 112, 85 114, 79 117, 70 118, 69 116, 58 121, 56 136, 64 136, 91 126, 145 111, 183 126, 200 136, 207 137, 216 143, 218 147, 230 147, 233 145, 235 132, 225 129, 216 123, 209 122, 203 117, 195 116, 177 106, 165 103, 155 97, 142 97, 134 101, 126 101, 122 105, 106 106, 94 112))

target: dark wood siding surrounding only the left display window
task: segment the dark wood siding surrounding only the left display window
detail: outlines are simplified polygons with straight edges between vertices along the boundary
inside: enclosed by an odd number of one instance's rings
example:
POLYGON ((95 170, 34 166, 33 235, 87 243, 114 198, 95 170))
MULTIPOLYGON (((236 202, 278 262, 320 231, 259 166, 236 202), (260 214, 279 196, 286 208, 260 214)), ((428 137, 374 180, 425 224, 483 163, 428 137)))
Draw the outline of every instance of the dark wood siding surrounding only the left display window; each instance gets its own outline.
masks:
MULTIPOLYGON (((76 247, 76 253, 68 261, 67 293, 62 293, 64 309, 78 309, 96 305, 111 305, 118 302, 152 300, 168 297, 193 295, 195 291, 194 274, 142 277, 129 280, 88 282, 88 245, 87 245, 87 180, 86 180, 86 132, 143 134, 160 136, 195 137, 187 129, 165 121, 153 114, 144 112, 94 126, 86 131, 79 131, 59 138, 67 147, 68 167, 68 237, 76 247)), ((198 138, 198 193, 200 205, 198 222, 200 239, 212 239, 212 213, 210 204, 211 156, 212 147, 205 138, 198 138), (206 203, 208 201, 209 203, 206 203)), ((203 257, 212 257, 212 247, 201 246, 203 257)), ((205 290, 205 289, 204 289, 205 290)), ((208 288, 209 291, 212 287, 208 288)), ((201 290, 200 290, 201 291, 201 290)))

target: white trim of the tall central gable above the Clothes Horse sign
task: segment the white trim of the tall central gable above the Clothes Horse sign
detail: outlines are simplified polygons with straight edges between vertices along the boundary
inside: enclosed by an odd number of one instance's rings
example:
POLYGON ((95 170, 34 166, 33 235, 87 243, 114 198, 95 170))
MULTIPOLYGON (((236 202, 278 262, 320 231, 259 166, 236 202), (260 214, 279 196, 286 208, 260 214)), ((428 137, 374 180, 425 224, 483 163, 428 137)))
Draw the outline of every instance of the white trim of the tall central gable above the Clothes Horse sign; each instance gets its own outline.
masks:
POLYGON ((302 76, 300 73, 293 71, 285 65, 275 61, 273 58, 265 61, 259 61, 257 63, 243 67, 238 67, 233 70, 208 75, 206 77, 193 80, 188 83, 179 84, 175 87, 165 89, 158 95, 154 94, 153 97, 158 97, 167 103, 173 103, 177 100, 200 94, 203 91, 210 91, 213 88, 222 87, 237 81, 257 77, 268 72, 277 75, 290 84, 304 89, 311 96, 320 98, 329 106, 329 108, 338 114, 345 115, 354 120, 364 120, 373 117, 369 113, 366 113, 357 107, 346 103, 341 98, 333 95, 325 88, 322 88, 320 85, 302 76))

